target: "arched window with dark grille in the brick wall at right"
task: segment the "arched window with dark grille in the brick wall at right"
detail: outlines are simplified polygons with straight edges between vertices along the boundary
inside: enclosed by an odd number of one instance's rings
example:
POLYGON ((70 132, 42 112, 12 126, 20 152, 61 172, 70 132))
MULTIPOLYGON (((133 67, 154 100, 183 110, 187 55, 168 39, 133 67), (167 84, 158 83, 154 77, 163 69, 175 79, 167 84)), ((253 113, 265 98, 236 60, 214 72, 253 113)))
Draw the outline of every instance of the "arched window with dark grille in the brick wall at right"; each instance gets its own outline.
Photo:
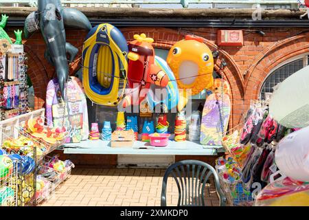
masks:
POLYGON ((266 78, 262 89, 260 91, 260 98, 262 100, 266 99, 267 94, 273 93, 273 87, 282 83, 283 80, 291 76, 295 72, 299 71, 308 65, 309 56, 302 55, 297 58, 294 58, 293 61, 287 61, 282 63, 277 69, 275 69, 271 74, 266 78))

